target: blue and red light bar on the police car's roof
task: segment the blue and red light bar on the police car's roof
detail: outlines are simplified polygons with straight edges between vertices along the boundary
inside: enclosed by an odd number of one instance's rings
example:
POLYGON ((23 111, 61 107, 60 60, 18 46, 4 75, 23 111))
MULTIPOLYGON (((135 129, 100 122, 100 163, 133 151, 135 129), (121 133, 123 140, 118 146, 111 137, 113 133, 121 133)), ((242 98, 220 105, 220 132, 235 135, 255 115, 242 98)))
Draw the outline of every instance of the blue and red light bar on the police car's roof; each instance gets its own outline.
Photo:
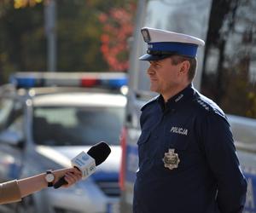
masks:
POLYGON ((17 72, 10 82, 25 89, 51 86, 120 89, 127 85, 127 78, 120 72, 17 72))

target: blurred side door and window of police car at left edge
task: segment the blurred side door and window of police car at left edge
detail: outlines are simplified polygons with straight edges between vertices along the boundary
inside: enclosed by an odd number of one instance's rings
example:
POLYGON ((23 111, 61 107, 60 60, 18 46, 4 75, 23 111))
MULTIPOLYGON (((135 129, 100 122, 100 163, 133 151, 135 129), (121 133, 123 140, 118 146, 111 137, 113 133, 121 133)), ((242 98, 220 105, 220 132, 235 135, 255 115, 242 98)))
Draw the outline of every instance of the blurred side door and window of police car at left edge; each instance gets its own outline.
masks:
POLYGON ((0 100, 0 181, 20 177, 25 143, 24 113, 20 101, 0 100))

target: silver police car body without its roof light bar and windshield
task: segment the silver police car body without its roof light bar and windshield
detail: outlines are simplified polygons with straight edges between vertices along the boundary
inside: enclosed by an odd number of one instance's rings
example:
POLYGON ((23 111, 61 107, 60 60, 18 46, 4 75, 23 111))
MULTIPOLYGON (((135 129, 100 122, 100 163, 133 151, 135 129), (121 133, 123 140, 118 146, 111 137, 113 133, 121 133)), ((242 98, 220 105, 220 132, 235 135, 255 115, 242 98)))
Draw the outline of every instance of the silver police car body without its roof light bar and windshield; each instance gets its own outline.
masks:
MULTIPOLYGON (((49 141, 49 144, 43 144, 44 141, 40 142, 41 144, 38 143, 33 133, 33 128, 35 128, 33 116, 37 116, 35 113, 44 115, 44 110, 36 112, 38 108, 56 109, 55 107, 66 106, 73 109, 73 107, 79 107, 83 112, 83 110, 86 111, 86 107, 92 111, 100 107, 106 112, 119 109, 121 116, 125 116, 126 97, 93 89, 15 89, 8 85, 0 90, 0 105, 2 110, 0 113, 2 127, 0 130, 0 181, 9 181, 37 175, 49 169, 70 167, 72 158, 81 151, 87 152, 93 145, 91 141, 87 145, 86 141, 83 141, 84 144, 68 144, 68 140, 65 146, 55 146, 53 141, 49 141), (7 124, 8 120, 15 117, 18 112, 20 117, 14 118, 13 123, 7 124)), ((73 120, 68 118, 68 114, 62 117, 70 124, 73 123, 73 120)), ((54 119, 55 117, 49 117, 49 121, 54 119)), ((102 122, 104 122, 103 119, 102 122)), ((115 120, 110 119, 108 122, 110 123, 106 124, 112 124, 115 120)), ((88 123, 90 126, 90 122, 88 123)), ((121 125, 121 123, 116 124, 119 130, 121 125)), ((108 125, 106 127, 108 128, 108 125)), ((72 130, 72 127, 70 129, 67 127, 65 130, 72 130)), ((114 135, 117 140, 106 141, 111 148, 111 153, 106 161, 96 167, 96 172, 89 178, 79 181, 73 187, 47 188, 33 193, 21 202, 3 205, 0 212, 1 210, 4 212, 14 210, 20 213, 119 213, 118 180, 121 156, 119 130, 104 131, 104 133, 109 132, 110 135, 114 135)), ((94 136, 93 131, 91 137, 94 136)), ((44 126, 38 132, 44 132, 44 126)), ((55 135, 57 134, 58 132, 55 132, 55 135)), ((104 135, 102 141, 105 141, 104 135)), ((93 143, 96 142, 100 141, 93 143)))

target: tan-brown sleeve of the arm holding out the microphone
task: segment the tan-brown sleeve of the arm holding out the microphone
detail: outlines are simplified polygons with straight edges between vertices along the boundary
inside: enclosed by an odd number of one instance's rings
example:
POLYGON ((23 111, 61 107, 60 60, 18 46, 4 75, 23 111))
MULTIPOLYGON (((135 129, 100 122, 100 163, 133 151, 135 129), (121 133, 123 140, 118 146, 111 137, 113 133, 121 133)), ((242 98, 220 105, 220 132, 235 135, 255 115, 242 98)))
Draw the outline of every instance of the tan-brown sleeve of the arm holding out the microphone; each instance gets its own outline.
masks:
POLYGON ((20 200, 20 188, 17 181, 8 181, 0 184, 0 204, 9 204, 20 200))

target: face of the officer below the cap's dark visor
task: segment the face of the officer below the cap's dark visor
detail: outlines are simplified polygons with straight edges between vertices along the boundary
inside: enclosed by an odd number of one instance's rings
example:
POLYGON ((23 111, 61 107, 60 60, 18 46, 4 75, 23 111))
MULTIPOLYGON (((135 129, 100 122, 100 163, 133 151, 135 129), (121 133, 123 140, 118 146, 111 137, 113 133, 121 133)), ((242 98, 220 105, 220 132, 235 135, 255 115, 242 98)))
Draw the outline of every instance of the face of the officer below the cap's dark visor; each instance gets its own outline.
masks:
POLYGON ((183 83, 183 73, 181 72, 183 62, 177 65, 172 64, 172 58, 149 61, 148 76, 150 79, 150 89, 161 95, 168 96, 176 91, 183 83))

